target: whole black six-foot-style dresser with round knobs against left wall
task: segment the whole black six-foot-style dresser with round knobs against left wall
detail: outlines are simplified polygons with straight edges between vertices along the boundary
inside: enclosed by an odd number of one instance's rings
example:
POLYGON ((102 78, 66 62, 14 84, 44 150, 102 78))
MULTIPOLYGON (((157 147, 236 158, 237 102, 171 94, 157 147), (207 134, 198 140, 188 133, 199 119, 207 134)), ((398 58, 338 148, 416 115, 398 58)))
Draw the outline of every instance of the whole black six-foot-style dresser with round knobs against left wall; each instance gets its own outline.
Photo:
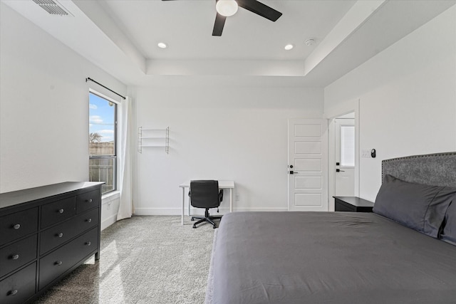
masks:
POLYGON ((0 303, 27 303, 95 254, 102 182, 0 194, 0 303))

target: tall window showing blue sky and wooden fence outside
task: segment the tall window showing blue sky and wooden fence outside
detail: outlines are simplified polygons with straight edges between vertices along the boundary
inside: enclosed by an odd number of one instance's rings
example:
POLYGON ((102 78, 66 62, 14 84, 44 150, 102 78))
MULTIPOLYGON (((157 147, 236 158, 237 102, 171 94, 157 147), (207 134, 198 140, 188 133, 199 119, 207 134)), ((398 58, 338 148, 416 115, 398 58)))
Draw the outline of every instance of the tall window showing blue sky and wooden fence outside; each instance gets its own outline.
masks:
POLYGON ((105 182, 104 194, 116 189, 117 104, 90 92, 88 115, 89 181, 105 182))

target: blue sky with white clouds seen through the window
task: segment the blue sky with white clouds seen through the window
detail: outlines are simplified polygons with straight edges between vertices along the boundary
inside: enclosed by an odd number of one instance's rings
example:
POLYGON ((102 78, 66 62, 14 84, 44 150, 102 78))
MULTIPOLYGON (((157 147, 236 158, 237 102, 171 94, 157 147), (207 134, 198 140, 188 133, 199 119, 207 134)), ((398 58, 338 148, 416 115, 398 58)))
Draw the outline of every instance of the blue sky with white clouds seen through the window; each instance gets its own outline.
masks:
POLYGON ((89 133, 98 133, 101 142, 114 140, 115 104, 89 93, 89 133))

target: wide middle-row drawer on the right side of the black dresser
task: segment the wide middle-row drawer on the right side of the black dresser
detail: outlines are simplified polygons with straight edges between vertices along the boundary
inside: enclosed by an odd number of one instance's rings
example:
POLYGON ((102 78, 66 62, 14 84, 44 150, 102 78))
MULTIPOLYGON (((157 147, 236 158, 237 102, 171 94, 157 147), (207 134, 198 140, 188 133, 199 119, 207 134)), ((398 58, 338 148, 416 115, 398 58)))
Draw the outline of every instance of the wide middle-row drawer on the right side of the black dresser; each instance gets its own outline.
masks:
POLYGON ((40 255, 50 251, 51 249, 59 246, 66 241, 73 239, 73 237, 84 231, 97 226, 98 224, 98 211, 100 209, 93 209, 84 214, 80 214, 73 219, 63 222, 57 226, 53 226, 41 232, 40 241, 40 255))

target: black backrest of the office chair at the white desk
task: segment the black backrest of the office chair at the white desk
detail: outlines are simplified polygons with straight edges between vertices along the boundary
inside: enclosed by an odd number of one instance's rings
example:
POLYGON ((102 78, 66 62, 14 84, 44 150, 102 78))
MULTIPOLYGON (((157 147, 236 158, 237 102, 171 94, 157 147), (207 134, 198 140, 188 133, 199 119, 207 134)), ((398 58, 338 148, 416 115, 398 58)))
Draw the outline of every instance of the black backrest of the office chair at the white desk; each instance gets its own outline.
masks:
POLYGON ((190 181, 190 203, 197 208, 216 208, 219 201, 219 182, 213 180, 190 181))

